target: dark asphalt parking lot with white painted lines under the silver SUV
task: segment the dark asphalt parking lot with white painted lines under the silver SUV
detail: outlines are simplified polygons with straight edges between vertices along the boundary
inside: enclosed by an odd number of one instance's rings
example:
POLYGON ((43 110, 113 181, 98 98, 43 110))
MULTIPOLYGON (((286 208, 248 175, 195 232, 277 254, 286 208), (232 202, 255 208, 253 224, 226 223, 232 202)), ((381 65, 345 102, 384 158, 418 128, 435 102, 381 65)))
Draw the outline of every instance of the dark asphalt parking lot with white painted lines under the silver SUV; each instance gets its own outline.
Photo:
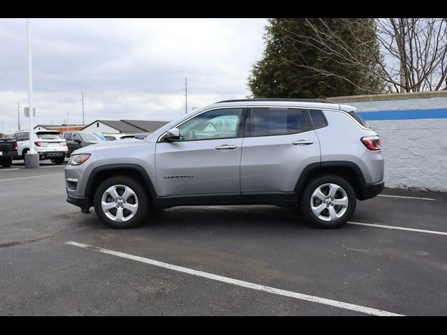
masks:
POLYGON ((63 166, 0 168, 0 315, 447 315, 444 193, 383 191, 337 230, 272 206, 110 230, 65 199, 63 166))

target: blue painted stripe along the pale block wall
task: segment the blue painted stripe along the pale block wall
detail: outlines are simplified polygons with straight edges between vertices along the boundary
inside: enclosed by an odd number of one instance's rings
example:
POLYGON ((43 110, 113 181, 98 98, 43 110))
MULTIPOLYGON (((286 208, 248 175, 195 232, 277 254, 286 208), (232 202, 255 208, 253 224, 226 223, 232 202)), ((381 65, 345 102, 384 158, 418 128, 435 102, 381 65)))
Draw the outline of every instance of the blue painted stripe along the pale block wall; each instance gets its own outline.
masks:
POLYGON ((437 110, 378 110, 377 112, 357 112, 365 121, 447 119, 447 108, 437 110))

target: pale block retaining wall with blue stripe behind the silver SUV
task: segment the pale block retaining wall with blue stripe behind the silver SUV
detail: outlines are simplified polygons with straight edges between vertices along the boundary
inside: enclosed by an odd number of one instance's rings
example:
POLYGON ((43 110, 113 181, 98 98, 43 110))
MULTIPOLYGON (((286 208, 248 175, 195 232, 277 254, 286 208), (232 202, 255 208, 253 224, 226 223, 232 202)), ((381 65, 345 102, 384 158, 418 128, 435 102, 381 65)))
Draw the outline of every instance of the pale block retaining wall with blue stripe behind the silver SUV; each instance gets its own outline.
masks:
POLYGON ((447 91, 328 100, 357 107, 379 133, 386 187, 447 191, 447 91))

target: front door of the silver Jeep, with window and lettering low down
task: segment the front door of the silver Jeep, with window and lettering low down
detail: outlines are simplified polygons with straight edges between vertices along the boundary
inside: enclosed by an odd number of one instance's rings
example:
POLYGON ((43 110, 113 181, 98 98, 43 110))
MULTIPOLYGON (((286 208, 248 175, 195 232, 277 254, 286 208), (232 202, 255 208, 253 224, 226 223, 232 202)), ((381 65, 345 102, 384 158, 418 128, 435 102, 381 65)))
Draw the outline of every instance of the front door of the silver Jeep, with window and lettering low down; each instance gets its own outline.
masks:
POLYGON ((244 108, 220 108, 177 126, 180 140, 156 144, 159 196, 240 195, 244 108))

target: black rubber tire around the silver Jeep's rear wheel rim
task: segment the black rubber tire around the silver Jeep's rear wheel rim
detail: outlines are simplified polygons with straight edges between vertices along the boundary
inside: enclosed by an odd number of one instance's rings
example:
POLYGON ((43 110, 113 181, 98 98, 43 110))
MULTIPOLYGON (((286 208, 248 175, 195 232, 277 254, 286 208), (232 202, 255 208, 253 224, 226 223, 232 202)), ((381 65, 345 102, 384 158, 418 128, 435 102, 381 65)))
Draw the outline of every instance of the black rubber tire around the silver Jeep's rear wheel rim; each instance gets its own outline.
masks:
MULTIPOLYGON (((339 196, 340 194, 342 194, 342 193, 337 193, 337 196, 339 196)), ((317 201, 316 203, 314 203, 314 206, 316 206, 316 204, 318 204, 317 199, 314 199, 312 201, 317 201)), ((331 201, 331 200, 329 199, 329 201, 331 201)), ((344 225, 346 222, 349 221, 349 219, 353 216, 354 211, 356 211, 356 202, 357 202, 356 192, 354 191, 351 184, 349 184, 349 182, 346 181, 346 179, 344 179, 342 177, 329 174, 327 176, 316 177, 316 179, 310 181, 309 184, 307 184, 307 186, 305 187, 305 190, 302 192, 302 195, 300 197, 300 209, 301 209, 302 215, 305 217, 306 221, 309 222, 310 224, 314 225, 314 227, 333 229, 333 228, 339 228, 342 225, 344 225), (344 192, 346 193, 346 196, 348 198, 348 205, 347 205, 346 209, 344 210, 344 214, 342 214, 342 216, 340 218, 337 218, 333 221, 325 221, 321 218, 318 218, 312 211, 312 207, 311 207, 312 194, 314 193, 314 191, 316 191, 316 189, 318 187, 320 187, 324 184, 337 184, 344 190, 344 192)), ((329 206, 331 206, 331 205, 329 205, 329 206)), ((334 208, 336 209, 336 211, 339 210, 338 213, 342 212, 342 207, 335 206, 334 208)), ((327 215, 329 217, 329 215, 330 215, 328 213, 327 209, 326 209, 326 211, 324 211, 324 209, 323 209, 323 212, 321 212, 321 213, 323 214, 322 216, 327 215)))

